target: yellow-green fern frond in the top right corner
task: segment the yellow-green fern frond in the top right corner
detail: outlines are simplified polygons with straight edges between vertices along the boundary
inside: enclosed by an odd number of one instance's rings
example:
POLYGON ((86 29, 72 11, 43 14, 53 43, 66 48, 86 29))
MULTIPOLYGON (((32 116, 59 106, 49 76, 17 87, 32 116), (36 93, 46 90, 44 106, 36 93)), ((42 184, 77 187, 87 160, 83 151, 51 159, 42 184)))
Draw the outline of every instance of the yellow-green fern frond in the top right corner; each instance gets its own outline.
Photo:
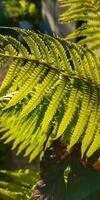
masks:
POLYGON ((80 44, 88 44, 91 49, 100 49, 100 4, 95 0, 60 0, 63 7, 68 10, 61 14, 60 20, 64 23, 72 21, 83 21, 84 23, 66 39, 86 37, 79 41, 80 44))

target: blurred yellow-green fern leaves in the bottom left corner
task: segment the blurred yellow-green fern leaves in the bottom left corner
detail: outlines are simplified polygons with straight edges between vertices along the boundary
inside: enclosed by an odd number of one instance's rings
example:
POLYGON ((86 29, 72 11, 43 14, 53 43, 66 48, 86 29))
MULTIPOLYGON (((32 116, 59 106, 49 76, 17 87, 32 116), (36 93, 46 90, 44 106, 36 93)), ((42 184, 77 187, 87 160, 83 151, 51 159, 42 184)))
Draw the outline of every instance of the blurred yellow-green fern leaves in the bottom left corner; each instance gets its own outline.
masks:
POLYGON ((37 172, 32 170, 0 171, 0 199, 27 200, 32 186, 39 179, 37 172))

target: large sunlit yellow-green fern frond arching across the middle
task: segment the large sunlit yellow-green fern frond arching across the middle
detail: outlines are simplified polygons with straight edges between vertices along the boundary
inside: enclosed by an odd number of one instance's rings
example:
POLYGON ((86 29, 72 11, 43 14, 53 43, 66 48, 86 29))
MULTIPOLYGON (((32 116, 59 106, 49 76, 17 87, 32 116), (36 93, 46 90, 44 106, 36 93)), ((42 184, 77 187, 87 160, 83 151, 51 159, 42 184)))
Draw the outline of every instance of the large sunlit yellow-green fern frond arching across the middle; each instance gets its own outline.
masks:
POLYGON ((61 137, 82 157, 100 148, 100 60, 59 37, 13 28, 25 45, 0 36, 0 63, 9 63, 0 88, 1 139, 32 161, 61 137), (6 100, 5 100, 6 99, 6 100))

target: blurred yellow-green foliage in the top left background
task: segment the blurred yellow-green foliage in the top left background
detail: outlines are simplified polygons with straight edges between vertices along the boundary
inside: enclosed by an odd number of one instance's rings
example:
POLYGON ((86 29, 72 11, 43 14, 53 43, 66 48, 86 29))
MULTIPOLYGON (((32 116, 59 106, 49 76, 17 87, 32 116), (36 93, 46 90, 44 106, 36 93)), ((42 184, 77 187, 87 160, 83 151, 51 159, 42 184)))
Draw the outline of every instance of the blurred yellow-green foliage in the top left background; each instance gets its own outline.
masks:
POLYGON ((32 29, 37 30, 41 19, 40 8, 39 0, 38 2, 34 0, 1 0, 0 25, 20 26, 20 22, 24 20, 30 23, 32 29))

